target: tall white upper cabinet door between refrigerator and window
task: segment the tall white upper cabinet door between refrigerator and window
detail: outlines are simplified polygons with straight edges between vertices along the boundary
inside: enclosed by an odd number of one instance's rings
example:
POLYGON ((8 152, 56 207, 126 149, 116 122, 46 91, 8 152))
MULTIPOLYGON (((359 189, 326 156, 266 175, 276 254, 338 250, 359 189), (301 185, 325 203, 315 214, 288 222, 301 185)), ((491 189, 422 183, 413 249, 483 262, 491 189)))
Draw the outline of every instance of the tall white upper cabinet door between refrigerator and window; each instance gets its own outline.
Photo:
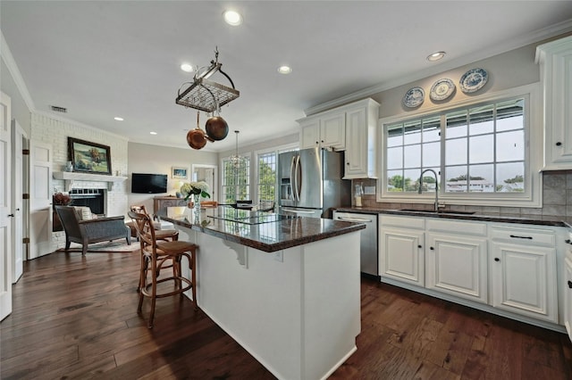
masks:
POLYGON ((367 178, 366 108, 346 113, 344 178, 367 178))

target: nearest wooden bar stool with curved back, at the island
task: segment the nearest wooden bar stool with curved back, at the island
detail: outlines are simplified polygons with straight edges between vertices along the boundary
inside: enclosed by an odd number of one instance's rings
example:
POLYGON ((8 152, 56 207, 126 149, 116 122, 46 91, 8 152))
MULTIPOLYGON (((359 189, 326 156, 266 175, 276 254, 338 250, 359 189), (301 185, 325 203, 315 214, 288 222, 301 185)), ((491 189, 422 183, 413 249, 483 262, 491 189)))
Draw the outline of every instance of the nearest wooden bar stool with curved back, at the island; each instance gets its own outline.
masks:
POLYGON ((168 242, 158 240, 155 234, 156 230, 153 228, 153 220, 148 214, 129 211, 129 216, 137 228, 139 242, 141 244, 139 307, 137 311, 139 313, 141 312, 144 297, 151 299, 148 327, 153 328, 157 298, 169 297, 175 294, 181 294, 182 297, 183 292, 191 289, 193 307, 197 310, 196 254, 198 245, 178 240, 168 242), (181 275, 182 257, 186 257, 189 260, 190 278, 182 277, 181 275), (166 260, 172 260, 172 276, 159 278, 159 272, 166 260), (151 268, 147 270, 149 264, 151 268), (147 278, 149 277, 149 272, 150 278, 147 278), (157 293, 157 285, 165 282, 172 282, 172 291, 157 293))

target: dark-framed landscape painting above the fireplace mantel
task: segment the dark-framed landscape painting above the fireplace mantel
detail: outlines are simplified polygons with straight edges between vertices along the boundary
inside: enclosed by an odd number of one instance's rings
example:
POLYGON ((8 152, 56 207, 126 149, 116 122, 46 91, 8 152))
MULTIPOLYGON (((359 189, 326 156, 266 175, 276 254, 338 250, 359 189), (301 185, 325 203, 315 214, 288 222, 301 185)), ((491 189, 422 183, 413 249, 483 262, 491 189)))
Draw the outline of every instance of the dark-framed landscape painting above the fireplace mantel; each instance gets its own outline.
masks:
POLYGON ((68 155, 73 171, 111 176, 109 146, 68 137, 68 155))

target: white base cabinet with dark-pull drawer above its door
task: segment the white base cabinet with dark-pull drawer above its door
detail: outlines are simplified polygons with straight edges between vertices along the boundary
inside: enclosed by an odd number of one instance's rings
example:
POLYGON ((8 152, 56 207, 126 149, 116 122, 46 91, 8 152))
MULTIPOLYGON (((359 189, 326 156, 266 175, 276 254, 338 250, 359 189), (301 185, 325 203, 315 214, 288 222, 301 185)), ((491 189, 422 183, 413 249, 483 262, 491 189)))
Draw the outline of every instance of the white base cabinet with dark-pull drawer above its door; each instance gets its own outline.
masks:
POLYGON ((492 306, 558 323, 556 235, 551 230, 491 227, 492 306))

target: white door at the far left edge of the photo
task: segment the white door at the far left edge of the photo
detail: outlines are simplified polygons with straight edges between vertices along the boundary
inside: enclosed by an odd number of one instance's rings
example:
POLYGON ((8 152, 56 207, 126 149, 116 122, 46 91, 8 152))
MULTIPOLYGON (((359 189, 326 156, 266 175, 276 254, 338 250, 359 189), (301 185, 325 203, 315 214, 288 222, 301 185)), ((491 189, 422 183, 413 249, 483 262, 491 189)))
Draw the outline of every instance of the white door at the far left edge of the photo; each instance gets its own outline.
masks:
POLYGON ((12 199, 10 96, 0 92, 0 320, 12 313, 12 199))

